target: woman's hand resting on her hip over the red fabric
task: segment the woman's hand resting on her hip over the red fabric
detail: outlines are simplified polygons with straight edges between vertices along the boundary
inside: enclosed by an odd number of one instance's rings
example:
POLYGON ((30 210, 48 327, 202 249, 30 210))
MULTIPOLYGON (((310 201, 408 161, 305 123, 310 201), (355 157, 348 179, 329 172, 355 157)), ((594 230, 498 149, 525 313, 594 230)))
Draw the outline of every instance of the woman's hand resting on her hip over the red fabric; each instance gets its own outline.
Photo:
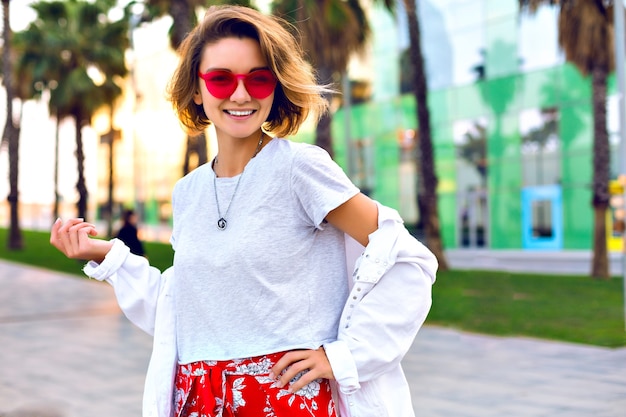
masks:
POLYGON ((276 385, 282 388, 303 371, 302 376, 289 386, 289 391, 299 391, 318 378, 335 379, 323 347, 315 350, 292 350, 285 353, 272 368, 270 377, 276 379, 276 385), (277 378, 277 375, 280 377, 277 378))

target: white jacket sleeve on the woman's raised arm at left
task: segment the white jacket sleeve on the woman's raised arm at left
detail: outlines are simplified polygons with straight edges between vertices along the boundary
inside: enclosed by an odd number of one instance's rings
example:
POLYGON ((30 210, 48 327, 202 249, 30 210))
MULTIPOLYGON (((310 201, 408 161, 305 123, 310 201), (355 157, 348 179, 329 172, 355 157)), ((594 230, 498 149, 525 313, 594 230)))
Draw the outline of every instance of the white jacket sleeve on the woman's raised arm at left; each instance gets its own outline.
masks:
POLYGON ((161 273, 143 256, 130 253, 121 240, 113 239, 113 247, 104 261, 89 261, 83 272, 90 278, 113 286, 124 315, 144 332, 154 335, 157 299, 173 268, 161 273))

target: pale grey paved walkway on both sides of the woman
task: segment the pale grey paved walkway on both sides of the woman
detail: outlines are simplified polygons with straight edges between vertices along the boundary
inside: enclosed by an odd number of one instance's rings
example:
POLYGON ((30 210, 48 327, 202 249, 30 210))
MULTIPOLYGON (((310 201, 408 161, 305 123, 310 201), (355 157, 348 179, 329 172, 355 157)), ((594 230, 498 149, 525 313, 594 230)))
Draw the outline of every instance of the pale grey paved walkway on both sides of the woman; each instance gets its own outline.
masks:
MULTIPOLYGON (((139 417, 150 349, 107 284, 0 261, 0 416, 139 417)), ((626 416, 626 349, 426 326, 404 366, 418 417, 626 416)))

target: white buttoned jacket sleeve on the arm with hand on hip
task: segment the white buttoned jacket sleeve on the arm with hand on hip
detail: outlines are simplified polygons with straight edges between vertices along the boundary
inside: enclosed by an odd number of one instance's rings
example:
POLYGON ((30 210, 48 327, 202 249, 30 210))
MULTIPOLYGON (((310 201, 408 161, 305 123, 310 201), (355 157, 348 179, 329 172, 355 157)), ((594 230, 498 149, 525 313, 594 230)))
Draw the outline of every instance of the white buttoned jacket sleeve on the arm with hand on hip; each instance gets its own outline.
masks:
POLYGON ((400 364, 432 303, 435 256, 395 210, 380 204, 378 210, 378 229, 356 261, 337 340, 324 345, 344 393, 400 364))

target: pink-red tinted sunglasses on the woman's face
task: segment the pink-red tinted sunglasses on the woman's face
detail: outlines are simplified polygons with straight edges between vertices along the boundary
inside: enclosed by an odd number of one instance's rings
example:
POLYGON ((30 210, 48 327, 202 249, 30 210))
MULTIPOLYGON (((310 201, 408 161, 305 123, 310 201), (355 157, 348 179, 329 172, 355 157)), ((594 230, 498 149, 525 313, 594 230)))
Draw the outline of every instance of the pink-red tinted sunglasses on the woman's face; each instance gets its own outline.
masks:
POLYGON ((234 74, 230 71, 215 70, 198 76, 204 80, 207 90, 215 98, 230 97, 237 89, 239 80, 243 80, 248 94, 256 99, 263 99, 274 91, 276 77, 268 69, 252 71, 248 74, 234 74))

